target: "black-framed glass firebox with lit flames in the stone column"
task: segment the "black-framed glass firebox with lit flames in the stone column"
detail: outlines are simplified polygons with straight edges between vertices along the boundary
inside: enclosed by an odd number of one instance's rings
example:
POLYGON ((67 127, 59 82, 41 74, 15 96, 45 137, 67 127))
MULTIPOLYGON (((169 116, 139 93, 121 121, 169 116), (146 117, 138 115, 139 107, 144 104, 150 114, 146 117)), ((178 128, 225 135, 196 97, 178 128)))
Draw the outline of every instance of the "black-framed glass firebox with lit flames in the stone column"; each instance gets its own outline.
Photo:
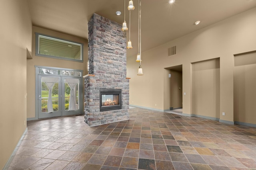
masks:
POLYGON ((100 89, 100 111, 122 109, 121 89, 100 89))

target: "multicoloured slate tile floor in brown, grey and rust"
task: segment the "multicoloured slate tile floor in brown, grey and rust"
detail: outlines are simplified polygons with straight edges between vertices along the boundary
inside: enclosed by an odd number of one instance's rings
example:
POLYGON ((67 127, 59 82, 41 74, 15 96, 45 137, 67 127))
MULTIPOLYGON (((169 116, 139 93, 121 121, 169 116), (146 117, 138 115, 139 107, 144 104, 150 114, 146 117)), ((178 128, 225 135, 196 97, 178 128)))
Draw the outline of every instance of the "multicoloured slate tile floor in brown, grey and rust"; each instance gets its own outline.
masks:
POLYGON ((28 121, 9 170, 256 170, 256 128, 142 108, 88 127, 83 116, 28 121))

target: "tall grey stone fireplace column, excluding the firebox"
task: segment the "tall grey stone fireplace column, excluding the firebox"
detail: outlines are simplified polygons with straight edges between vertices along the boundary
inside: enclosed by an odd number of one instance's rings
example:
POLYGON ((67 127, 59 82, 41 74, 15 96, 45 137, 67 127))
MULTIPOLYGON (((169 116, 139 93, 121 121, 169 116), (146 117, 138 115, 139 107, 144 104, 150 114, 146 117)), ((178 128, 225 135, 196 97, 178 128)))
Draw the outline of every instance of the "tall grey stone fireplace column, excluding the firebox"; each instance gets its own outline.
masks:
POLYGON ((89 126, 127 120, 126 33, 122 25, 94 14, 88 22, 89 72, 84 76, 85 122, 89 126), (100 89, 122 89, 122 109, 100 111, 100 89))

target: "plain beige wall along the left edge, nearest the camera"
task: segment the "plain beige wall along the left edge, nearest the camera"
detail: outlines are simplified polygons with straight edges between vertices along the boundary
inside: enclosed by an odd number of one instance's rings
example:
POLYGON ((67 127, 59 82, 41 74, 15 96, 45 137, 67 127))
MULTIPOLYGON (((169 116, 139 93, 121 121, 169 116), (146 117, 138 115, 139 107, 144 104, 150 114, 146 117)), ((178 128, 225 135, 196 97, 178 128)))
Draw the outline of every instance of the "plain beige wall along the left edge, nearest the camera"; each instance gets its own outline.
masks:
POLYGON ((26 56, 32 49, 32 22, 26 0, 0 5, 0 169, 26 130, 26 56))

